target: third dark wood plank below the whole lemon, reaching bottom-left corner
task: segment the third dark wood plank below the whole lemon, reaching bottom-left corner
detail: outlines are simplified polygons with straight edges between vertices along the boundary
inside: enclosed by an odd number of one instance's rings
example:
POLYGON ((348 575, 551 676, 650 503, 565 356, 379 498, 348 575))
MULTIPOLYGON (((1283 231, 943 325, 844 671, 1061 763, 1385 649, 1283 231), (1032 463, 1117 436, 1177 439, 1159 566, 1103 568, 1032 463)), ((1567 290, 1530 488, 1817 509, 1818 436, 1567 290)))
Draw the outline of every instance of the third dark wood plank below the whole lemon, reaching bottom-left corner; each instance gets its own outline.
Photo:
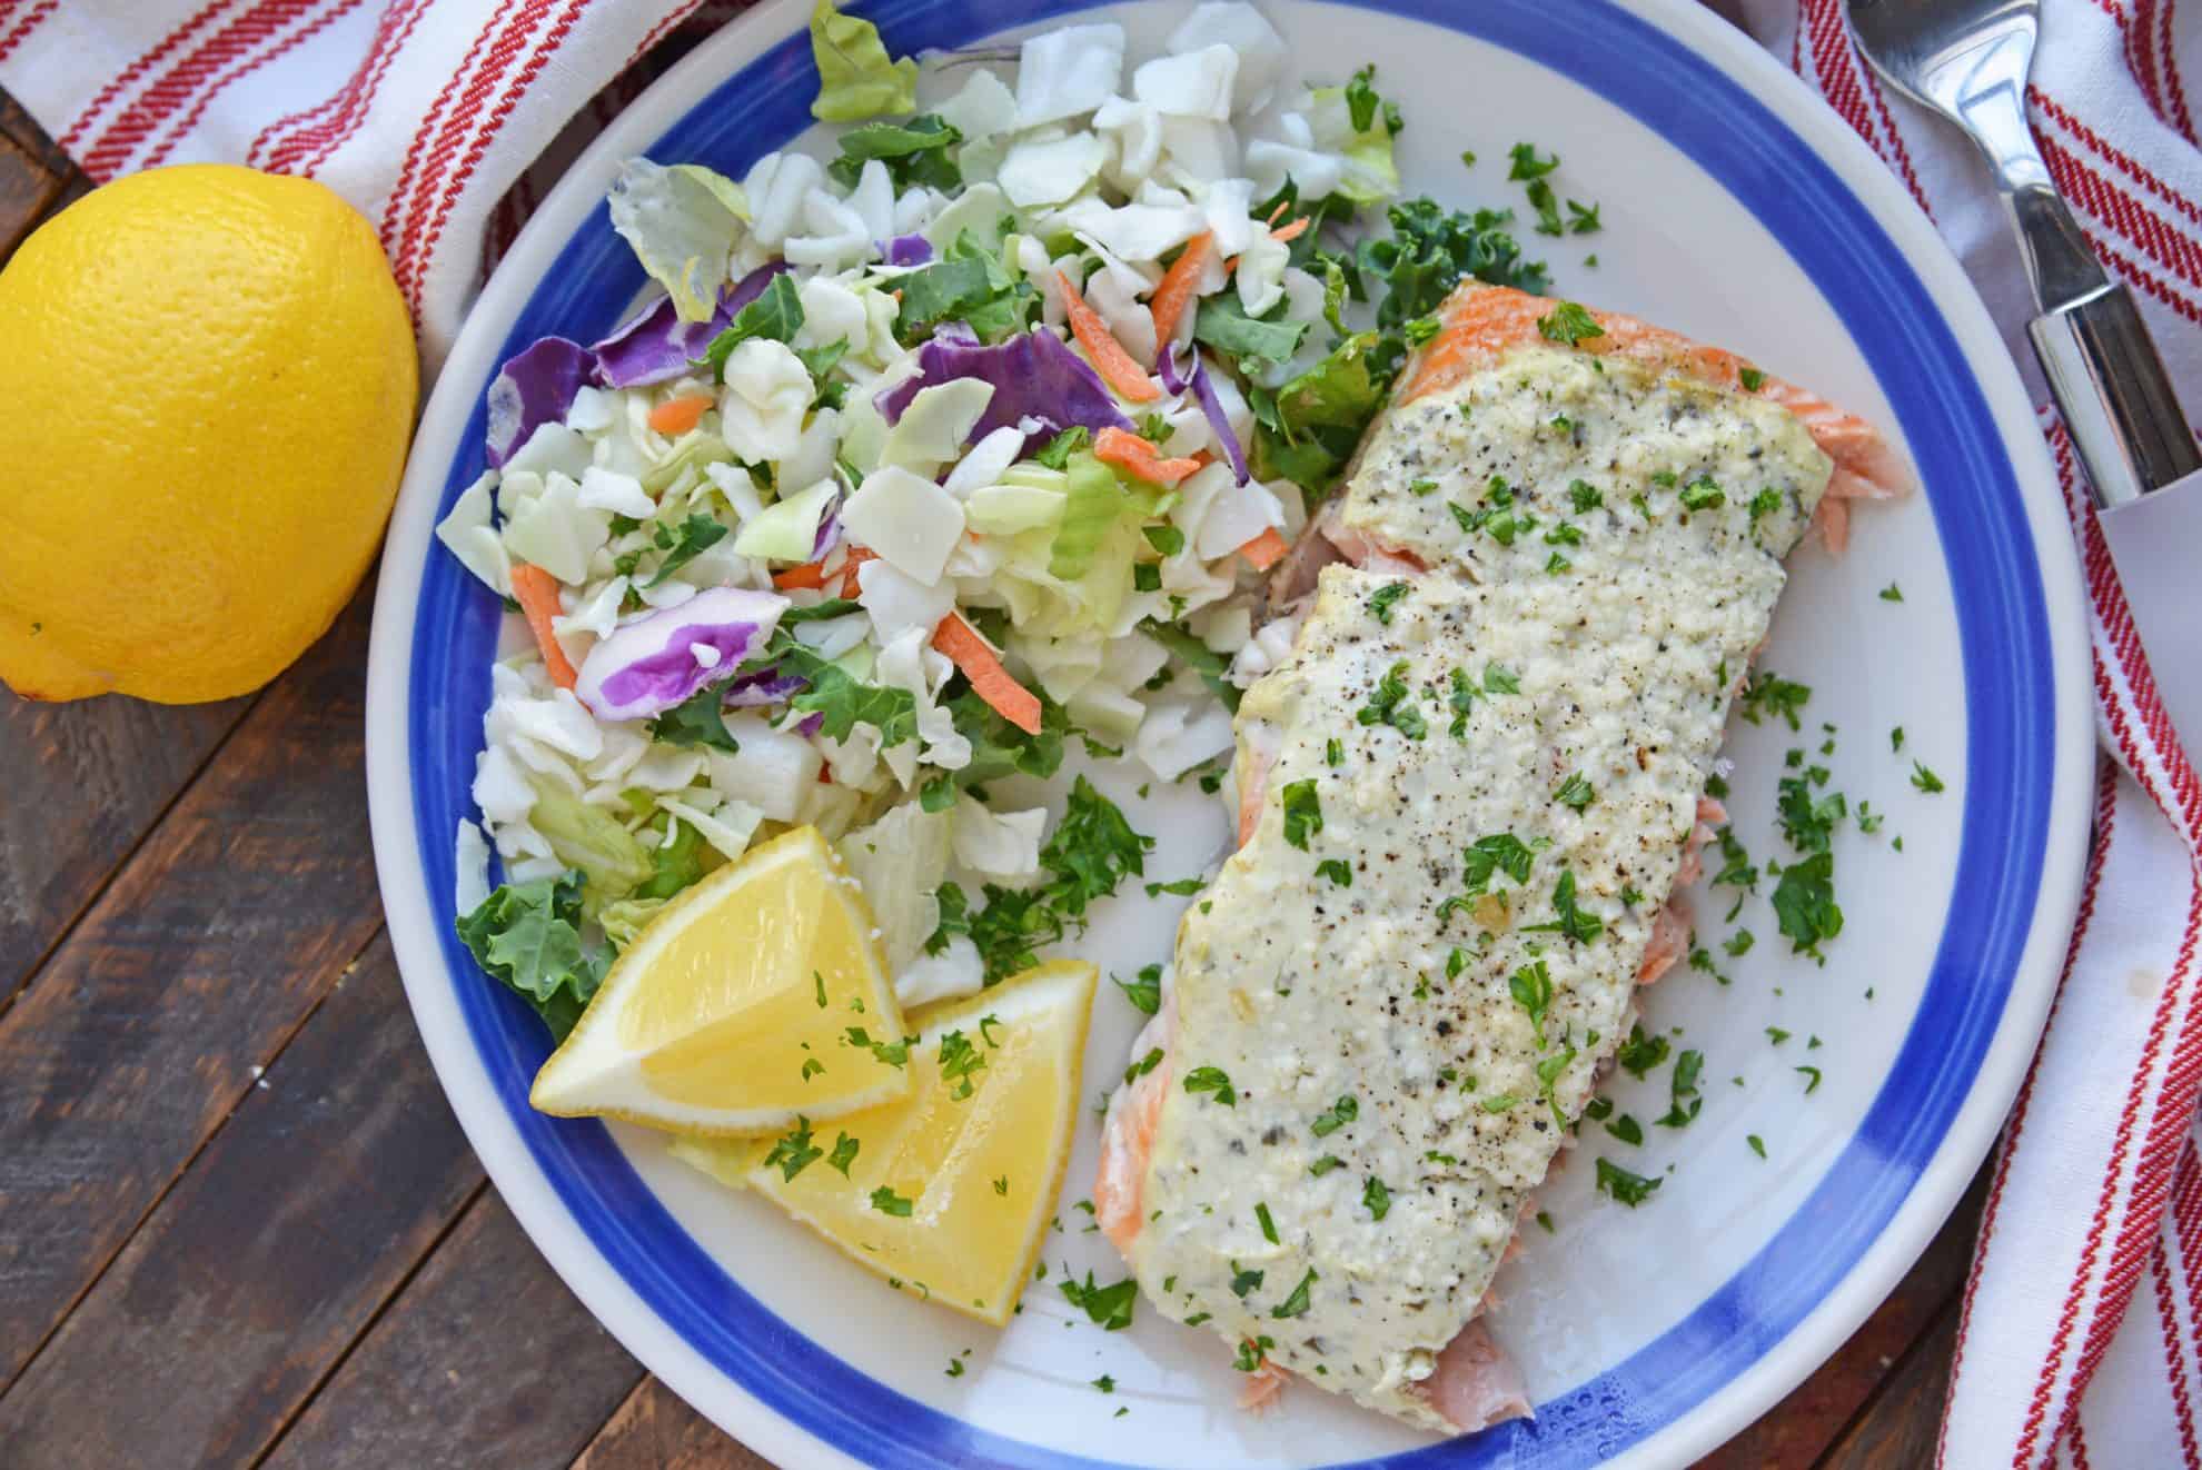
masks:
POLYGON ((251 1463, 480 1186, 377 937, 0 1395, 7 1461, 251 1463))

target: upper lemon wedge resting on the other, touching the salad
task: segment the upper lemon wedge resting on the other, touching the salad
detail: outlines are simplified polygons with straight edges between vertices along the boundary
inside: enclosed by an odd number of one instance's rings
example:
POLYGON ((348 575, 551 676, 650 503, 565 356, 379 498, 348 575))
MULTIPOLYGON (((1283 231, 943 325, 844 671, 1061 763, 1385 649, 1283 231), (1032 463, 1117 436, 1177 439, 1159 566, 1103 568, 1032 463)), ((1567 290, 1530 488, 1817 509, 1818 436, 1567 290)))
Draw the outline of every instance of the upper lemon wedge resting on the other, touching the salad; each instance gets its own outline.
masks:
POLYGON ((909 1096, 872 913, 817 827, 683 891, 612 964, 528 1100, 687 1133, 766 1133, 909 1096))

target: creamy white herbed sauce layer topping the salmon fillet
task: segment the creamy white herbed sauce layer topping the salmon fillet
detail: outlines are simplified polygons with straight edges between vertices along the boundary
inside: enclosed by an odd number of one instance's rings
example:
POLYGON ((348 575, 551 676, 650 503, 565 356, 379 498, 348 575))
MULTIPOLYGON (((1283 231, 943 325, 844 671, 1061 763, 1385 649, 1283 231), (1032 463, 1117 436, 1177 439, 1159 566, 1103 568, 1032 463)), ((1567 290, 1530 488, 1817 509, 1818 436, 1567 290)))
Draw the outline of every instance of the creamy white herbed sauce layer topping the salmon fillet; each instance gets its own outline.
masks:
POLYGON ((1264 792, 1178 931, 1127 1243, 1163 1312, 1449 1428, 1422 1384, 1627 1028, 1828 475, 1784 409, 1579 350, 1385 414, 1341 519, 1431 570, 1323 568, 1240 706, 1264 792))

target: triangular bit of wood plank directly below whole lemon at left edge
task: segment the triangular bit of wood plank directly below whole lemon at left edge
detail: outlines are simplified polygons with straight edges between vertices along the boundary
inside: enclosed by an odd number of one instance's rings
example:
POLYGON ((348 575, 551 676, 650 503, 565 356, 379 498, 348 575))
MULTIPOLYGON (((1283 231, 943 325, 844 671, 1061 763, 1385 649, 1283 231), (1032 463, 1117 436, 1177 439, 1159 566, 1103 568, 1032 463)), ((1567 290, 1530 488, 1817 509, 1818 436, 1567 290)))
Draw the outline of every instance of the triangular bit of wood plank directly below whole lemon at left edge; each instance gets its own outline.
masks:
POLYGON ((0 689, 0 1008, 247 709, 0 689))

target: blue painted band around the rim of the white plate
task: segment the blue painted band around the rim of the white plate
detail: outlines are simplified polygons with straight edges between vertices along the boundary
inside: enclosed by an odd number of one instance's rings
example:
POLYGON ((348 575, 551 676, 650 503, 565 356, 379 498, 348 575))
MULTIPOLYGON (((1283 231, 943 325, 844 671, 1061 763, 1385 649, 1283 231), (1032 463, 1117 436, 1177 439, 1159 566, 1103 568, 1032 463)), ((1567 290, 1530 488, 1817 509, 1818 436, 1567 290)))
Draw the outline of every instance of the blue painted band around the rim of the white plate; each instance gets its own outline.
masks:
MULTIPOLYGON (((1594 1466, 1676 1424, 1788 1336, 1863 1261, 1971 1094, 2019 970, 2050 832, 2057 691, 2050 618, 2019 482, 1995 416, 1933 297, 1867 207, 1812 147, 1709 62, 1607 0, 1332 0, 1502 46, 1623 108, 1696 161, 1834 306, 1903 425, 1949 566, 1969 713, 1966 803, 1949 918, 1889 1078, 1790 1221, 1685 1320, 1629 1360, 1495 1430, 1356 1461, 1594 1466), (1596 37, 1588 44, 1585 37, 1596 37)), ((861 7, 896 55, 964 46, 969 0, 861 7)), ((989 33, 1090 9, 998 0, 989 33)), ((658 158, 740 176, 810 123, 806 35, 766 48, 667 128, 658 158)), ((595 216, 520 310, 498 361, 544 334, 608 330, 645 284, 595 216)), ((487 383, 476 385, 476 405, 487 383)), ((480 407, 458 438, 438 515, 480 473, 480 407)), ((495 1091, 590 1243, 643 1303, 771 1413, 874 1466, 1103 1468, 980 1430, 841 1362, 744 1292, 656 1202, 597 1122, 544 1118, 528 1083, 548 1054, 539 1021, 493 986, 451 929, 449 832, 469 816, 498 603, 429 552, 414 607, 407 748, 414 830, 445 975, 495 1091)))

